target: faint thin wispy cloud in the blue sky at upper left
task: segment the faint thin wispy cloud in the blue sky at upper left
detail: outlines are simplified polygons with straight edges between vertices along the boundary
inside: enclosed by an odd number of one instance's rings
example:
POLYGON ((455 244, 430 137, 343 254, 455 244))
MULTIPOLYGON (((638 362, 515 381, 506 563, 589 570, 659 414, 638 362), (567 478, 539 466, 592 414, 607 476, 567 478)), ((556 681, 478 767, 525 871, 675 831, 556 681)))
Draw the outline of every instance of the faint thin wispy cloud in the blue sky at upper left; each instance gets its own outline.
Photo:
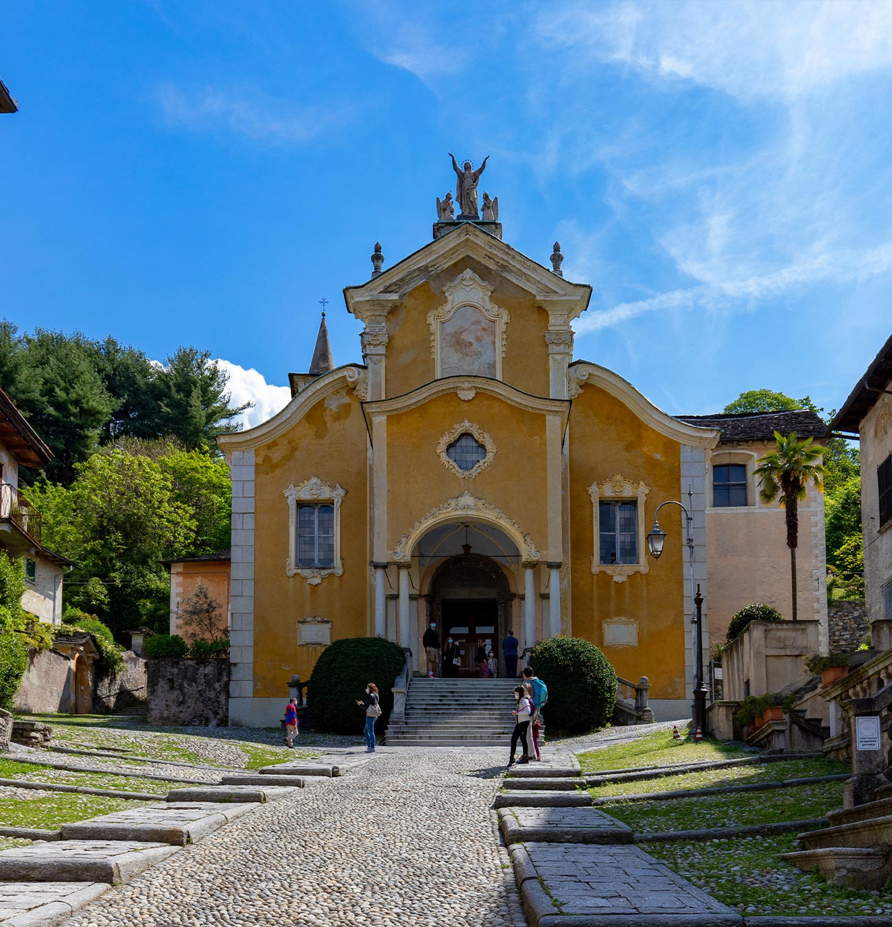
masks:
POLYGON ((169 125, 192 132, 222 129, 281 145, 303 145, 350 117, 350 108, 344 106, 301 108, 288 100, 214 86, 185 92, 164 83, 156 96, 169 125))

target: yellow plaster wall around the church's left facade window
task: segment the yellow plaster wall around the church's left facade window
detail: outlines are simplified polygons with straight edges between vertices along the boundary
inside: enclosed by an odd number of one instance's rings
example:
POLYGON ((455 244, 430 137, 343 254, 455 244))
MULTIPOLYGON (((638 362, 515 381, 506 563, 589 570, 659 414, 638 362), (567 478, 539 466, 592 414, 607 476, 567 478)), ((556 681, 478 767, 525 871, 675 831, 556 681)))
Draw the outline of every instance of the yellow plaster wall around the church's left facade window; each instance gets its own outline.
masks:
POLYGON ((308 679, 322 648, 298 646, 300 618, 333 622, 331 639, 364 637, 368 629, 366 513, 367 432, 355 392, 344 387, 319 400, 286 434, 255 458, 254 695, 287 696, 287 679, 308 679), (288 504, 283 492, 311 476, 339 483, 341 577, 311 586, 286 573, 288 504))

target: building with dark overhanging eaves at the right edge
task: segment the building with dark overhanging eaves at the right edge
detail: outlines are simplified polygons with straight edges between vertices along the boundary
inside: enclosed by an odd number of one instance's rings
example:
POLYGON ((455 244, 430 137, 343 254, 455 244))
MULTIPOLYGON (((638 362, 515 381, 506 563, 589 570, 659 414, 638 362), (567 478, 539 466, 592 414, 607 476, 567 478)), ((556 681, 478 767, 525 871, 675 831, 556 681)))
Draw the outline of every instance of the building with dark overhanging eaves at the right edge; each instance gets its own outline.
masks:
POLYGON ((860 437, 864 597, 873 623, 892 620, 892 337, 831 428, 860 437))

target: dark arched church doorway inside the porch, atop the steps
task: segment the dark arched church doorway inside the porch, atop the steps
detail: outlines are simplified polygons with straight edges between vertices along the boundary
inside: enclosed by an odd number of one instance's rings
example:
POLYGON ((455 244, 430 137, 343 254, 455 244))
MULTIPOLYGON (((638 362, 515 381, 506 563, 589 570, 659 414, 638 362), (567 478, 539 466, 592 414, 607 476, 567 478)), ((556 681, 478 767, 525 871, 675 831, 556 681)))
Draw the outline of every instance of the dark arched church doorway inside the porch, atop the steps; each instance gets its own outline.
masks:
POLYGON ((502 666, 500 641, 512 625, 511 591, 503 566, 492 557, 459 553, 444 560, 428 586, 430 620, 440 628, 440 640, 450 637, 462 653, 460 667, 442 667, 444 676, 478 676, 478 647, 495 654, 502 666), (457 672, 456 672, 457 670, 457 672))

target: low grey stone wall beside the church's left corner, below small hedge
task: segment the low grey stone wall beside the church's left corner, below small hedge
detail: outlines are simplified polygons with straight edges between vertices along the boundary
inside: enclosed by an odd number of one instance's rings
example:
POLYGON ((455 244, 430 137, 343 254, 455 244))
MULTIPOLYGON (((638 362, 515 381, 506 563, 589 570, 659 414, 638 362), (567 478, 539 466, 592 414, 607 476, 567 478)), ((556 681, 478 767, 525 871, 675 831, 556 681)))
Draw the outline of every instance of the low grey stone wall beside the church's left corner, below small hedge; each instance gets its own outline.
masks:
POLYGON ((147 688, 149 724, 229 723, 228 660, 147 660, 147 688))

